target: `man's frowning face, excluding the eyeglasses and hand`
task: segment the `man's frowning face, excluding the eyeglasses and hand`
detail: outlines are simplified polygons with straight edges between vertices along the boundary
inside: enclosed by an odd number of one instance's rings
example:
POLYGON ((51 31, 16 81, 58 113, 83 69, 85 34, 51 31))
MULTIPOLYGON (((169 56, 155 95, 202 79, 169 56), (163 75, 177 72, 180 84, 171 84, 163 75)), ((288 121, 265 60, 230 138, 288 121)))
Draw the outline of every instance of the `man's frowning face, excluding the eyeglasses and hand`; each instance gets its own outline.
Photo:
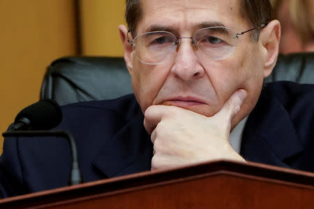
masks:
MULTIPOLYGON (((172 29, 177 37, 190 37, 208 22, 220 22, 237 33, 250 29, 237 0, 142 0, 142 10, 137 34, 160 26, 172 29)), ((244 88, 248 96, 232 121, 234 127, 251 112, 262 89, 260 44, 246 33, 239 36, 230 57, 211 61, 197 57, 189 39, 179 42, 174 60, 163 64, 147 65, 130 53, 128 70, 143 113, 151 105, 163 104, 213 116, 234 91, 244 88)))

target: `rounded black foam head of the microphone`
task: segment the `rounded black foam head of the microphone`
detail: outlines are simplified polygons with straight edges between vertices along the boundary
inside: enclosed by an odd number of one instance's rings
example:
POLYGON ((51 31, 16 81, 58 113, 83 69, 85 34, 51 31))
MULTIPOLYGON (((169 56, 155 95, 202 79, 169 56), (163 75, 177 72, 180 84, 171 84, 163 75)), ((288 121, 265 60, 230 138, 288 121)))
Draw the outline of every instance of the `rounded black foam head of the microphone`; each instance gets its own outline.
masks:
POLYGON ((14 123, 24 121, 24 118, 29 120, 31 130, 50 130, 61 123, 62 111, 57 102, 44 99, 22 109, 14 123))

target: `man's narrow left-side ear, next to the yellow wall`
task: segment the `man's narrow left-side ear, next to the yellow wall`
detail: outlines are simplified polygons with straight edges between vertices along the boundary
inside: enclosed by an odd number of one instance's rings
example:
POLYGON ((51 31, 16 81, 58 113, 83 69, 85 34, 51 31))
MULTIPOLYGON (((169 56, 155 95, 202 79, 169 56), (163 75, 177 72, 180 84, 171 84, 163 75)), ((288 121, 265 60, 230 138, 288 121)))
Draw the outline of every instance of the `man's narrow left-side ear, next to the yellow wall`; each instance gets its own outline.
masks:
MULTIPOLYGON (((132 71, 133 68, 133 59, 132 52, 133 47, 130 42, 128 42, 128 29, 123 24, 118 26, 121 42, 124 45, 124 61, 126 61, 126 68, 128 68, 128 72, 132 71)), ((129 34, 130 37, 130 34, 129 34)))

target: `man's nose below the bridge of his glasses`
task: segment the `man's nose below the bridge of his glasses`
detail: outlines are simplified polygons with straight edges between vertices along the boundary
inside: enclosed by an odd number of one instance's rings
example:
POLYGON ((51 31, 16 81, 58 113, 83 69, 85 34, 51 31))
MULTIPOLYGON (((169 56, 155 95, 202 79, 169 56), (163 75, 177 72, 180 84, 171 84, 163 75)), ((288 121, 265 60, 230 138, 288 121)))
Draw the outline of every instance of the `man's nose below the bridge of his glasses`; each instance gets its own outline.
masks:
POLYGON ((190 39, 181 39, 171 72, 174 77, 184 81, 197 79, 204 75, 204 68, 195 54, 195 47, 190 39))

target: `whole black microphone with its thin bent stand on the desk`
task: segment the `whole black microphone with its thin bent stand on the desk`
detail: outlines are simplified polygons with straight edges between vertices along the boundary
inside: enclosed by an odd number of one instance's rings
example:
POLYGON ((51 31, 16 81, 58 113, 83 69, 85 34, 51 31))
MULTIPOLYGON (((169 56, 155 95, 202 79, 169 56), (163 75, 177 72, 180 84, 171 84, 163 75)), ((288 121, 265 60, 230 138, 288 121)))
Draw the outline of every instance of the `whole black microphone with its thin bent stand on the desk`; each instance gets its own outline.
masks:
POLYGON ((77 146, 69 132, 65 130, 50 130, 62 121, 61 107, 50 99, 40 100, 25 107, 15 117, 13 127, 2 134, 3 137, 65 137, 70 143, 72 155, 71 172, 68 185, 82 183, 82 173, 77 160, 77 146))

